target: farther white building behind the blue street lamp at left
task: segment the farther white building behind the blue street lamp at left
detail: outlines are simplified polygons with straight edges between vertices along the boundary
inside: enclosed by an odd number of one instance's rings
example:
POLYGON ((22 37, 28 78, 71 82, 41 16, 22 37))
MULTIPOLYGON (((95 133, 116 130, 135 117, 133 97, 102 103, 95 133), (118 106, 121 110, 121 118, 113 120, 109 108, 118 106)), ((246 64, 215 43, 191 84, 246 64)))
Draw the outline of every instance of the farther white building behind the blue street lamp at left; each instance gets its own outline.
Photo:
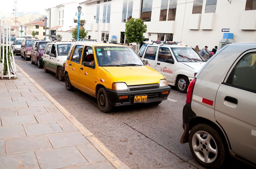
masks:
MULTIPOLYGON (((77 26, 74 18, 77 19, 76 12, 79 5, 77 2, 71 2, 46 9, 47 27, 49 27, 47 36, 60 34, 63 38, 72 39, 72 32, 69 30, 77 26)), ((81 12, 83 14, 80 19, 84 19, 85 8, 82 8, 81 12)))

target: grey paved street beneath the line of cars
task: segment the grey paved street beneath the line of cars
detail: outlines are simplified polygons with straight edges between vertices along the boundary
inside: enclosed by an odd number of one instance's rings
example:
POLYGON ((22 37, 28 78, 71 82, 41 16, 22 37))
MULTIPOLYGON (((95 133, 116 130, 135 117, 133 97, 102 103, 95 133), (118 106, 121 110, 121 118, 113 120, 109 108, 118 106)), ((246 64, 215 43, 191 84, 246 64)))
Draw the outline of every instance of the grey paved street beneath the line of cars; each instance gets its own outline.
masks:
POLYGON ((96 99, 78 89, 66 90, 55 74, 44 73, 20 56, 15 62, 129 167, 202 168, 188 144, 179 142, 186 94, 172 87, 168 100, 158 106, 126 106, 102 113, 96 99))

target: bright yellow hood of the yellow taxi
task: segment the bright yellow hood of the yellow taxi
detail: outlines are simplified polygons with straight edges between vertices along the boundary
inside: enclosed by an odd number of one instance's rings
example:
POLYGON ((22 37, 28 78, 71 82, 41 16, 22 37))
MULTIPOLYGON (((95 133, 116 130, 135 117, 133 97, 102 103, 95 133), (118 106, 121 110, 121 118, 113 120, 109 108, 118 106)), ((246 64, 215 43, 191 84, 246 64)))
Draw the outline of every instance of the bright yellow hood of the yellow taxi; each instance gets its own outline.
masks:
POLYGON ((103 67, 117 82, 127 86, 159 83, 164 76, 148 66, 103 67))

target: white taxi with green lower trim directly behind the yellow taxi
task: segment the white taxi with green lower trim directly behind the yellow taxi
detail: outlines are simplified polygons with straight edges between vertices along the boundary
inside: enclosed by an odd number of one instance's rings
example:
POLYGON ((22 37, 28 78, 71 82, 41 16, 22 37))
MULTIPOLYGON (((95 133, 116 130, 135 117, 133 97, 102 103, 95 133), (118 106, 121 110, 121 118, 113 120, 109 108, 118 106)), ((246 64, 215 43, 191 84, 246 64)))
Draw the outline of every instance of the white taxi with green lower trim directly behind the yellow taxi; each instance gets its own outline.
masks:
POLYGON ((64 66, 69 49, 73 42, 51 42, 48 43, 43 54, 44 72, 48 70, 56 73, 60 81, 64 80, 64 66))

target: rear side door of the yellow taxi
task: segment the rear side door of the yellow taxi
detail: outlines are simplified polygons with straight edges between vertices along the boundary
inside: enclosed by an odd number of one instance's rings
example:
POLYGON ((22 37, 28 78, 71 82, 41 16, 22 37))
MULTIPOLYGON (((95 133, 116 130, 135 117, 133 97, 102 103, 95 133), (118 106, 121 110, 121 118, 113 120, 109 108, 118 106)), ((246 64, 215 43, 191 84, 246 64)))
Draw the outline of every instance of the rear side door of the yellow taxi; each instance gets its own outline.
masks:
POLYGON ((79 72, 81 68, 81 57, 83 52, 83 45, 76 45, 72 53, 70 62, 68 64, 68 75, 72 85, 80 88, 79 85, 79 72))

